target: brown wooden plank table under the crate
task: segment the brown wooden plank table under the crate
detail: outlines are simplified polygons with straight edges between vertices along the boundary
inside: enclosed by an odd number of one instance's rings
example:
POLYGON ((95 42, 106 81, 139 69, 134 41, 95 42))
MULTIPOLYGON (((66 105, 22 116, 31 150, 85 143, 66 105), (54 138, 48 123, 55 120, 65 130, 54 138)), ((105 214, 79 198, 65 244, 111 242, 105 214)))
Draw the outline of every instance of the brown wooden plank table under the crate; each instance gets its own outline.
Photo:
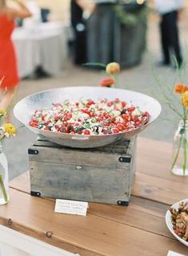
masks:
POLYGON ((130 205, 90 203, 86 217, 54 213, 54 200, 31 197, 29 175, 22 174, 10 182, 0 224, 82 256, 188 255, 165 223, 168 206, 188 198, 188 178, 170 174, 170 156, 170 144, 138 138, 130 205))

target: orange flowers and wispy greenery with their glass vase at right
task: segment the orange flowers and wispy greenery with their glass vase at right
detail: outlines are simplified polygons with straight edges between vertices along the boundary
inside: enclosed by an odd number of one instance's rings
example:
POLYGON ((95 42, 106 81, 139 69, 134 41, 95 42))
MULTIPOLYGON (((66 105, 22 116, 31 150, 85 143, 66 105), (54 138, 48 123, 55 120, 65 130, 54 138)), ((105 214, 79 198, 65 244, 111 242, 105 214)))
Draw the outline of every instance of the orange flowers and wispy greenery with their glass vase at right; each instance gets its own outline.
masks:
POLYGON ((187 80, 187 66, 186 62, 183 62, 182 66, 178 66, 176 58, 174 58, 176 64, 173 77, 164 74, 156 74, 154 66, 152 71, 157 88, 154 87, 153 94, 160 95, 162 104, 165 104, 171 114, 166 113, 164 120, 177 123, 178 130, 174 134, 173 150, 172 150, 172 162, 170 170, 173 174, 179 176, 188 176, 188 85, 187 80), (172 87, 171 80, 174 80, 172 87))

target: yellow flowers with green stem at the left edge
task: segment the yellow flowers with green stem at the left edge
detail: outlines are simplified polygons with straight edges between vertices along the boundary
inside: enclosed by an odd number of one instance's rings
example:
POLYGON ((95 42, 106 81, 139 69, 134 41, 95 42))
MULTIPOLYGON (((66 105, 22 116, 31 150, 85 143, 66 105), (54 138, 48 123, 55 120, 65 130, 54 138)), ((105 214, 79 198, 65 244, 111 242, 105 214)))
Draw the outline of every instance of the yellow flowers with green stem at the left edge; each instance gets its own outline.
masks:
MULTIPOLYGON (((0 81, 0 86, 2 85, 3 78, 0 81)), ((2 89, 2 97, 6 96, 6 89, 2 89)), ((10 122, 6 122, 6 117, 7 117, 7 110, 9 109, 10 106, 7 106, 6 109, 0 108, 0 143, 4 138, 11 138, 14 137, 16 134, 16 128, 14 125, 10 122)), ((2 146, 0 146, 0 155, 3 154, 2 152, 2 146)), ((2 166, 4 166, 2 164, 2 166)), ((2 190, 2 201, 3 202, 8 202, 8 195, 6 191, 6 186, 4 183, 4 178, 3 177, 2 170, 0 170, 0 189, 2 190)), ((0 195, 1 197, 1 195, 0 195)))

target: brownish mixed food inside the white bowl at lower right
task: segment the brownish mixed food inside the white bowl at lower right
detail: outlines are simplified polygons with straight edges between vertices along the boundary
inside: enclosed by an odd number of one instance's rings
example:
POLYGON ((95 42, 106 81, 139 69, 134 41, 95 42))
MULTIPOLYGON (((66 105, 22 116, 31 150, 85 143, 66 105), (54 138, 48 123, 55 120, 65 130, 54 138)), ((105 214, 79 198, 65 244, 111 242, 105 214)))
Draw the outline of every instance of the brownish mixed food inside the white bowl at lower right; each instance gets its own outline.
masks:
POLYGON ((178 210, 170 207, 170 213, 175 234, 188 242, 188 202, 180 202, 178 210))

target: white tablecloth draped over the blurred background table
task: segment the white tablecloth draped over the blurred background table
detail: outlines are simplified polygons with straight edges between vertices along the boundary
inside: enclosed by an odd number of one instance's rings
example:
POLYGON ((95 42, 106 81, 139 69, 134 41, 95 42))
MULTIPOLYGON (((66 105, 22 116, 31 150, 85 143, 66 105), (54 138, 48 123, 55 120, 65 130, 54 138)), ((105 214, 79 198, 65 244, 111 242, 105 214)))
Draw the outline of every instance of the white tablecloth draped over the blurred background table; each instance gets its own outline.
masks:
POLYGON ((12 39, 20 78, 30 76, 38 66, 51 75, 62 71, 67 58, 67 27, 61 22, 16 28, 12 39))

